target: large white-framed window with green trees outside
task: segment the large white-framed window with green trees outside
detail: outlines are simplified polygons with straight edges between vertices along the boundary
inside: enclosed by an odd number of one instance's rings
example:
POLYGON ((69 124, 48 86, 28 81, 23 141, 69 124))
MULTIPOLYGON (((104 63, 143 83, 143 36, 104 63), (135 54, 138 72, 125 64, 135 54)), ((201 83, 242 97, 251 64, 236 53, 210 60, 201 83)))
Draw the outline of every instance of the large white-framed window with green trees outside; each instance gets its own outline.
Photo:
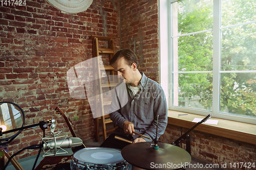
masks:
POLYGON ((256 2, 166 2, 169 109, 256 124, 256 2))

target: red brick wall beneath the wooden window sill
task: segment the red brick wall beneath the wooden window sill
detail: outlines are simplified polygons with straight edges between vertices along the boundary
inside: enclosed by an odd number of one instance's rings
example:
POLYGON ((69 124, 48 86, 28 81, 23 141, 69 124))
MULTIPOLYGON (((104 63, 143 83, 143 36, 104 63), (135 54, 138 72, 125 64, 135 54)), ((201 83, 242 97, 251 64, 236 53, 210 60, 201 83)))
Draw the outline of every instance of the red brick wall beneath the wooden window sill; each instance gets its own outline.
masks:
MULTIPOLYGON (((181 128, 178 126, 168 125, 164 134, 159 138, 159 141, 164 143, 172 143, 177 140, 182 134, 188 129, 181 128)), ((246 169, 252 170, 251 168, 230 168, 230 163, 256 163, 256 145, 245 143, 225 137, 211 135, 199 131, 191 131, 190 133, 190 145, 191 155, 201 158, 203 160, 212 162, 214 164, 221 165, 227 164, 229 169, 246 169)), ((186 148, 186 144, 182 143, 182 148, 186 148)), ((254 165, 255 165, 254 163, 254 165)), ((240 164, 241 167, 241 164, 240 164)))

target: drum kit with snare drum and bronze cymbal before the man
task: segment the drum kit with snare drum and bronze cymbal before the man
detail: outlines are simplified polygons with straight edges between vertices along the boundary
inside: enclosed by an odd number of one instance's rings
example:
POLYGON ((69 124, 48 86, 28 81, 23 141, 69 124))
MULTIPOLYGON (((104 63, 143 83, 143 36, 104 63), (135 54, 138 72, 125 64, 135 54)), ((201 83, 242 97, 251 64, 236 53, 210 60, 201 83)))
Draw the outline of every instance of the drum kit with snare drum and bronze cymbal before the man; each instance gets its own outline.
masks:
POLYGON ((183 169, 190 163, 191 156, 176 145, 185 140, 183 138, 191 130, 205 122, 210 116, 210 114, 206 116, 172 144, 158 142, 156 136, 154 142, 133 143, 126 145, 122 150, 112 148, 81 149, 72 155, 70 168, 71 170, 126 170, 131 167, 129 164, 132 164, 143 169, 183 169))

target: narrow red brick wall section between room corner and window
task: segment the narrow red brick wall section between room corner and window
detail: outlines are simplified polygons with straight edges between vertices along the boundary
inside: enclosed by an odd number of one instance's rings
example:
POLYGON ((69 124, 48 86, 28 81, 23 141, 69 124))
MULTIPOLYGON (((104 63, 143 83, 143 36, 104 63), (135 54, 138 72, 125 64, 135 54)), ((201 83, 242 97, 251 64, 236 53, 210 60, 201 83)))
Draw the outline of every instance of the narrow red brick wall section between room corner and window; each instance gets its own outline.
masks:
POLYGON ((120 1, 121 48, 138 56, 139 70, 159 82, 157 0, 120 1))

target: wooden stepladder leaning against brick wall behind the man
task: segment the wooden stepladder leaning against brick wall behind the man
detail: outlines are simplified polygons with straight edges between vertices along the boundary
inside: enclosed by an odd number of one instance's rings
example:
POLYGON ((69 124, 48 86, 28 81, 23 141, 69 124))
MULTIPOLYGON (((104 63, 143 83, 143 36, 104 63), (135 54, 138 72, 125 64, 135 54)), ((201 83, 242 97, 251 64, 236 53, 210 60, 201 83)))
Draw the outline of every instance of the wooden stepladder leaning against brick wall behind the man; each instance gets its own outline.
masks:
MULTIPOLYGON (((100 56, 100 54, 107 54, 109 57, 109 61, 112 59, 112 57, 115 55, 115 45, 114 45, 114 39, 115 37, 104 37, 104 36, 91 36, 90 39, 93 41, 93 57, 100 56), (99 41, 107 41, 105 43, 108 43, 108 48, 99 48, 99 41)), ((110 75, 114 75, 114 68, 111 65, 100 65, 99 58, 97 59, 96 63, 93 63, 93 74, 95 76, 95 80, 100 80, 101 78, 101 70, 109 70, 110 75)), ((106 130, 106 124, 112 123, 112 120, 110 119, 109 114, 105 115, 105 106, 108 106, 111 104, 111 99, 103 99, 102 93, 106 88, 114 88, 119 83, 119 80, 115 82, 115 79, 113 78, 112 81, 109 82, 102 82, 102 81, 96 81, 95 82, 95 89, 98 91, 97 93, 100 94, 97 96, 95 104, 96 104, 96 112, 99 113, 100 117, 95 118, 95 124, 96 124, 96 141, 99 141, 99 136, 103 135, 103 140, 106 139, 106 134, 111 133, 116 129, 116 126, 114 125, 114 128, 106 130), (102 131, 99 131, 99 120, 101 120, 101 127, 102 131)))

